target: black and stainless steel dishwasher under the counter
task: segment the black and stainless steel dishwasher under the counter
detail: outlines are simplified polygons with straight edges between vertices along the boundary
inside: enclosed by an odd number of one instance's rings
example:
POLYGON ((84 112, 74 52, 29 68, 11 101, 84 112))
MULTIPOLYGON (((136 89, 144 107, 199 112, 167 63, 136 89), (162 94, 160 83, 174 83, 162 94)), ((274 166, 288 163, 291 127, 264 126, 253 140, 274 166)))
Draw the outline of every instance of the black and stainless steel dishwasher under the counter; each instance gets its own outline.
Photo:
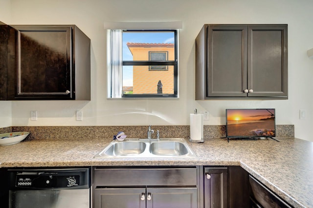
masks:
POLYGON ((9 169, 9 208, 90 208, 90 168, 9 169))

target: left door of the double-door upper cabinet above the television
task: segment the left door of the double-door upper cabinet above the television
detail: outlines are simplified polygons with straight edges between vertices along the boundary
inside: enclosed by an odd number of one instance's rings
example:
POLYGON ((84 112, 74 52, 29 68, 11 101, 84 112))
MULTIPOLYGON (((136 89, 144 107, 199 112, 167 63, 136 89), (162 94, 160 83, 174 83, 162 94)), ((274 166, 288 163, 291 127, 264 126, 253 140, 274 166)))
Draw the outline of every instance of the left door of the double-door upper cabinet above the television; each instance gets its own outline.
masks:
POLYGON ((246 97, 245 25, 209 25, 207 96, 246 97))

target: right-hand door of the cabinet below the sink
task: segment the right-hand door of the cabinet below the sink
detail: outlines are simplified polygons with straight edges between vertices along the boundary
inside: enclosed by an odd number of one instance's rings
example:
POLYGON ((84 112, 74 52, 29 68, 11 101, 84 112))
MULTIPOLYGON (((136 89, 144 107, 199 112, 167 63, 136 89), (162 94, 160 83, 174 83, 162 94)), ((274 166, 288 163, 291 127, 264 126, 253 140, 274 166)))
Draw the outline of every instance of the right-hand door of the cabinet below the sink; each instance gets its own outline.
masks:
POLYGON ((147 208, 197 208, 197 187, 147 188, 147 208))

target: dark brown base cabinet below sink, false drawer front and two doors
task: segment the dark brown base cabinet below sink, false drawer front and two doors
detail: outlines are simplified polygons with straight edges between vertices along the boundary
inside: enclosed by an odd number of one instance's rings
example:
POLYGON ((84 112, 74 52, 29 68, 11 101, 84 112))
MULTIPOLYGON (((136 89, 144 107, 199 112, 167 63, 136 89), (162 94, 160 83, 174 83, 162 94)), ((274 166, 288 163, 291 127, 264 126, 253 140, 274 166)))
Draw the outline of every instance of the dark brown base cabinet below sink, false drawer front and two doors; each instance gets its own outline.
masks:
POLYGON ((95 167, 93 208, 198 208, 199 166, 95 167))

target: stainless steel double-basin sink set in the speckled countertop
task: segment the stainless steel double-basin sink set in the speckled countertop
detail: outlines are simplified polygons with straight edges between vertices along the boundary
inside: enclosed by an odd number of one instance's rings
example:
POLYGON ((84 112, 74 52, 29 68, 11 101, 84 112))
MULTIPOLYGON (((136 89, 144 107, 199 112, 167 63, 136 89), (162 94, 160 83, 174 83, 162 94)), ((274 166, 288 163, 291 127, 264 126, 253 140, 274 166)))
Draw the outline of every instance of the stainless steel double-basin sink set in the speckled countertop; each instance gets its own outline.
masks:
POLYGON ((126 139, 125 141, 113 141, 95 158, 161 158, 161 157, 196 157, 196 154, 181 138, 148 140, 126 139))

